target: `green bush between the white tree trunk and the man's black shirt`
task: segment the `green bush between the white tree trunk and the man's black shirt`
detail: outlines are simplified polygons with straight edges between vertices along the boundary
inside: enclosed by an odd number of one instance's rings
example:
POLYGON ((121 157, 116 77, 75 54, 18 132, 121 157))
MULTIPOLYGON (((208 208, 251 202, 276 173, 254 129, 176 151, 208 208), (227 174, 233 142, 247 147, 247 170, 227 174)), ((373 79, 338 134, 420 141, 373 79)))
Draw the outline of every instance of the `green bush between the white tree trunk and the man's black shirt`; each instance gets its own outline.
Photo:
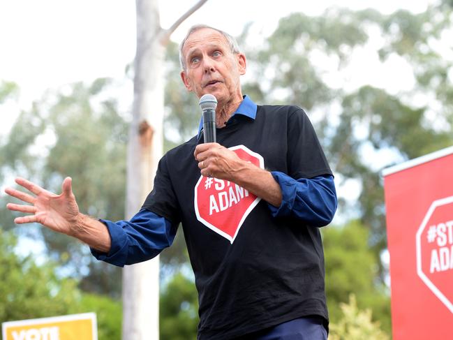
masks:
POLYGON ((161 293, 162 340, 195 340, 198 325, 198 295, 195 283, 175 274, 161 293))

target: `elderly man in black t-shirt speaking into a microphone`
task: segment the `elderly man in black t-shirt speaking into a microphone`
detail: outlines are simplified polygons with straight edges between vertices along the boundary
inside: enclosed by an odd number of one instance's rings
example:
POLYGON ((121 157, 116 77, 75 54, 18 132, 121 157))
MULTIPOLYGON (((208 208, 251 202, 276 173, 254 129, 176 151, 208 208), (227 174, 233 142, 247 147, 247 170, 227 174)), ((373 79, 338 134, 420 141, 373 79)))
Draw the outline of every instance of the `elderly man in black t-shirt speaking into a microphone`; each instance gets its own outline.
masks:
POLYGON ((198 339, 327 339, 324 256, 318 227, 336 210, 332 172, 304 111, 256 105, 242 95, 246 57, 218 29, 192 27, 181 78, 198 98, 216 96, 218 143, 200 133, 168 151, 154 189, 130 221, 80 214, 64 180, 54 195, 6 192, 31 205, 16 223, 39 222, 124 266, 148 260, 184 229, 200 302, 198 339), (204 213, 203 213, 204 212, 204 213))

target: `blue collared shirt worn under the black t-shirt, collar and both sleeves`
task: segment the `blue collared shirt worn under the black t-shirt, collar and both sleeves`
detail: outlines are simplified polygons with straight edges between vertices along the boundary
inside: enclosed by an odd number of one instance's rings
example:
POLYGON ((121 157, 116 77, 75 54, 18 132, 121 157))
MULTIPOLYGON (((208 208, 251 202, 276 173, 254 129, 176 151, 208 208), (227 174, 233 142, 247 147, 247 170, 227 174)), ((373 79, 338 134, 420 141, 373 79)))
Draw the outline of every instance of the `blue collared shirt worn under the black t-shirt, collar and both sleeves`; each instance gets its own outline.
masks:
MULTIPOLYGON (((237 114, 255 119, 256 112, 257 105, 248 96, 244 96, 244 100, 229 121, 237 114)), ((202 126, 201 120, 198 138, 202 126)), ((326 226, 332 221, 337 206, 332 175, 293 179, 283 172, 271 173, 281 187, 282 193, 280 207, 268 204, 272 216, 294 216, 316 227, 326 226)), ((173 243, 177 231, 177 226, 147 209, 141 209, 129 221, 101 221, 110 232, 112 246, 108 253, 100 253, 95 249, 91 249, 91 253, 98 260, 121 267, 154 258, 173 243)))

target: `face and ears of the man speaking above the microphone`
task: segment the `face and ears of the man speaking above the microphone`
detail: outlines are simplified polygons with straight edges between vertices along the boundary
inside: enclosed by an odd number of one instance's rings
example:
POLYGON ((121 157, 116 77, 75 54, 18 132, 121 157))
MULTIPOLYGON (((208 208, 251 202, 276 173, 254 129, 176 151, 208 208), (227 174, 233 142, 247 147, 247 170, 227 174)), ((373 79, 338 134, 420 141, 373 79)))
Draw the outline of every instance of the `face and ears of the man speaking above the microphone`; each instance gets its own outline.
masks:
POLYGON ((181 78, 200 98, 213 94, 218 103, 242 101, 239 76, 246 72, 244 54, 233 54, 225 37, 214 29, 193 32, 182 49, 186 71, 181 78))

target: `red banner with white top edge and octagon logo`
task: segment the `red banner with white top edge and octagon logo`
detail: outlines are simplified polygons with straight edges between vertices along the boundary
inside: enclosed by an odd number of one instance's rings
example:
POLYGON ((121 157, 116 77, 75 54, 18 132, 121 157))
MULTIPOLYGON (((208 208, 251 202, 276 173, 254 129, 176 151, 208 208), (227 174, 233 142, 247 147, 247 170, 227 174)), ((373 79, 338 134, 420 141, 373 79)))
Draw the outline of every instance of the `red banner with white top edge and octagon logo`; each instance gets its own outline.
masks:
POLYGON ((383 175, 393 339, 452 339, 453 147, 383 175))

